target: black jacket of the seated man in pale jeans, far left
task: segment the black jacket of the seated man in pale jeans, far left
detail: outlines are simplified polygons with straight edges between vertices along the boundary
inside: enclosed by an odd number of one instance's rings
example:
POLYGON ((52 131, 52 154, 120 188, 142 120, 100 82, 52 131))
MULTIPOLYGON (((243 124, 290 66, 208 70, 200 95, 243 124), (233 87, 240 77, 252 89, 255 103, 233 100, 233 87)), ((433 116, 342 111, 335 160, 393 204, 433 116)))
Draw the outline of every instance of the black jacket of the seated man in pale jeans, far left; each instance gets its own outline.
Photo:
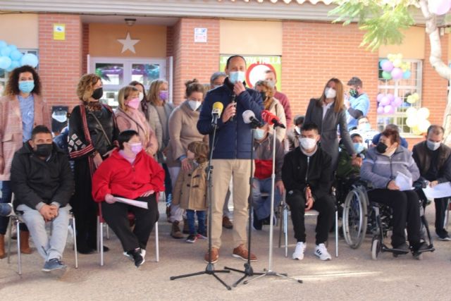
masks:
POLYGON ((26 142, 13 157, 11 184, 15 195, 14 207, 25 204, 38 209, 39 203, 68 204, 74 191, 73 174, 68 156, 54 143, 50 158, 39 159, 26 142))

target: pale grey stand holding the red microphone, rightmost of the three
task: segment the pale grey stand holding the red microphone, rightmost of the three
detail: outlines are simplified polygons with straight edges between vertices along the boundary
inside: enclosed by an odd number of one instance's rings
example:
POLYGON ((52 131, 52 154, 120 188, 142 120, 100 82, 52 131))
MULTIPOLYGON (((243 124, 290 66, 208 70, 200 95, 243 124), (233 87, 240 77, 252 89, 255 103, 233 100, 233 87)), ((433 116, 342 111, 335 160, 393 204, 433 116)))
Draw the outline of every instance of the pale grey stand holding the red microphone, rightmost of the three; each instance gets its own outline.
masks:
POLYGON ((273 271, 273 220, 274 220, 274 185, 276 180, 276 127, 275 124, 273 126, 273 173, 271 174, 271 216, 269 218, 269 256, 268 256, 268 269, 264 269, 264 273, 261 273, 260 276, 257 276, 255 278, 252 278, 250 280, 247 280, 243 282, 243 284, 247 284, 251 281, 257 280, 259 278, 262 278, 264 276, 278 276, 282 277, 284 279, 297 281, 297 283, 302 283, 302 280, 288 277, 288 274, 286 273, 278 273, 276 271, 273 271))

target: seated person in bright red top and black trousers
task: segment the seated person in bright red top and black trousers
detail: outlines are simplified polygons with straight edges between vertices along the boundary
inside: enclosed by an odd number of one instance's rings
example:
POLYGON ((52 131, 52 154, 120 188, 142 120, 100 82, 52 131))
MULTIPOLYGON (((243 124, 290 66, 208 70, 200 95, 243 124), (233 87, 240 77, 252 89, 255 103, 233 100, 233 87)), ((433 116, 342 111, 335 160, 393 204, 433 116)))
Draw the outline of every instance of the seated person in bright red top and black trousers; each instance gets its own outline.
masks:
POLYGON ((116 233, 124 249, 139 267, 144 263, 147 241, 159 213, 156 193, 164 191, 164 171, 144 150, 135 130, 124 130, 118 137, 119 149, 106 159, 92 178, 92 197, 101 203, 102 215, 116 233), (117 202, 115 197, 146 202, 149 209, 117 202), (130 229, 128 211, 135 214, 130 229))

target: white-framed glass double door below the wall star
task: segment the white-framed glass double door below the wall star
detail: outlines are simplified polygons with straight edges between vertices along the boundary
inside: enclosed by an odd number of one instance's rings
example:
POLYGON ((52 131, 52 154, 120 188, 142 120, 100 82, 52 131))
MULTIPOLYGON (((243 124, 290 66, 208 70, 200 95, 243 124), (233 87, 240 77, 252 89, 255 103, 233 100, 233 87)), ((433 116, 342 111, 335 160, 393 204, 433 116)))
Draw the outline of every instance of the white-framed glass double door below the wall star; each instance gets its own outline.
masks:
POLYGON ((132 80, 141 82, 146 91, 152 80, 166 79, 166 59, 91 58, 90 71, 104 83, 104 104, 116 108, 118 91, 132 80))

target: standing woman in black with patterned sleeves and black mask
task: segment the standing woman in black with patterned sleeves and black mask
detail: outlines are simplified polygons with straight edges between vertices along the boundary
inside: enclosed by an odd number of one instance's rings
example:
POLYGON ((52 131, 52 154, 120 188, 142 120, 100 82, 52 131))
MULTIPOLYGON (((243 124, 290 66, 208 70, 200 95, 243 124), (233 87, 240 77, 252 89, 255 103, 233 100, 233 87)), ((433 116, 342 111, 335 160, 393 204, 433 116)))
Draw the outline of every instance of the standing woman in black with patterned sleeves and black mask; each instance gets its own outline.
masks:
MULTIPOLYGON (((70 199, 77 220, 77 248, 82 254, 97 249, 97 204, 92 199, 92 175, 115 147, 118 126, 113 110, 101 104, 104 94, 101 78, 85 74, 77 86, 82 104, 69 118, 69 156, 74 161, 75 193, 70 199)), ((104 251, 108 248, 104 247, 104 251)))

